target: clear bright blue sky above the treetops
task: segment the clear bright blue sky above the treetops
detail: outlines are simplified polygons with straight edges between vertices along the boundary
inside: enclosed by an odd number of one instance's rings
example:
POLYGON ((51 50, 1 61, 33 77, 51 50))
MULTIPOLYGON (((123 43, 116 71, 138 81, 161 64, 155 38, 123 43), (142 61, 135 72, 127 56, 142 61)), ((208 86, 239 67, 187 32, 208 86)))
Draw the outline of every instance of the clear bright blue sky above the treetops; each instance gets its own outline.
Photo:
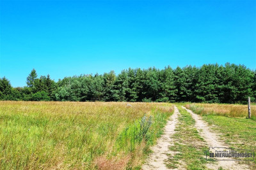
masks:
POLYGON ((129 67, 256 68, 256 1, 2 1, 0 77, 129 67))

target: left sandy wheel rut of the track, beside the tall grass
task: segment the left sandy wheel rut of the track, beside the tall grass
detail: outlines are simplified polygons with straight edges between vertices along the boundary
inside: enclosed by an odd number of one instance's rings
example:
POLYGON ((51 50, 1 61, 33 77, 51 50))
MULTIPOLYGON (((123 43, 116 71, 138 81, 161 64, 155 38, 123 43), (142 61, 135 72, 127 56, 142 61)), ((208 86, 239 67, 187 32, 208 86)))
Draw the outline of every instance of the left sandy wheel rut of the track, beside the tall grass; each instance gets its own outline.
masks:
POLYGON ((168 120, 164 127, 164 134, 157 140, 157 145, 152 146, 153 153, 150 154, 146 163, 142 166, 142 169, 168 169, 164 161, 168 159, 168 155, 173 154, 169 149, 169 146, 173 145, 173 139, 171 136, 175 133, 175 126, 178 122, 179 110, 174 106, 174 113, 168 120))

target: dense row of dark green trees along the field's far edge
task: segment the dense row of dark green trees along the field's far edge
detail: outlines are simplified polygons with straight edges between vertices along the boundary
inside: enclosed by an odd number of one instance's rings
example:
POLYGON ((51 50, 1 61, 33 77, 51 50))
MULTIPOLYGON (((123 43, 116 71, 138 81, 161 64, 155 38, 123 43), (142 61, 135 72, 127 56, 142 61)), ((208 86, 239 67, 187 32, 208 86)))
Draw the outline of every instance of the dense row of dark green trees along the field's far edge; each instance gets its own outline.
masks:
POLYGON ((0 79, 0 99, 15 101, 143 101, 244 103, 255 102, 256 71, 243 65, 205 64, 172 69, 125 69, 116 75, 84 74, 55 82, 33 69, 26 87, 0 79))

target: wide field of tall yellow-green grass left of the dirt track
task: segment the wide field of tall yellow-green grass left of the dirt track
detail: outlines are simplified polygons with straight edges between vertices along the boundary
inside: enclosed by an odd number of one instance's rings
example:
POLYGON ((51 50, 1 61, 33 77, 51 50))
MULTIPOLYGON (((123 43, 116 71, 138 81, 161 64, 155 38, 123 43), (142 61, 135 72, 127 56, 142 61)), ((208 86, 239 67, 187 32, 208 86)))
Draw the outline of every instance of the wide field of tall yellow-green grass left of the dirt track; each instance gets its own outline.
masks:
POLYGON ((138 168, 171 104, 0 101, 1 169, 138 168))

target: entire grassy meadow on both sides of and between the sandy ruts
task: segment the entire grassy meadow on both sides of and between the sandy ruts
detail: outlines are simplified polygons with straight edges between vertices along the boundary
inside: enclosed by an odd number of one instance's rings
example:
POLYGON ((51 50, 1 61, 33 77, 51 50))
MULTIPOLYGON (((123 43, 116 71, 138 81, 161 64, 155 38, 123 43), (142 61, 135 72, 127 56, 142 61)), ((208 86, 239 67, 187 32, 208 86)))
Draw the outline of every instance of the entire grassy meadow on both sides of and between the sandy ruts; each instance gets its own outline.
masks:
MULTIPOLYGON (((246 105, 129 104, 0 101, 0 169, 141 169, 174 105, 180 116, 170 150, 178 154, 167 167, 181 161, 186 169, 207 169, 202 156, 209 146, 181 106, 201 115, 226 145, 256 148, 256 122, 246 118, 246 105)), ((243 163, 256 168, 255 160, 243 163)))

